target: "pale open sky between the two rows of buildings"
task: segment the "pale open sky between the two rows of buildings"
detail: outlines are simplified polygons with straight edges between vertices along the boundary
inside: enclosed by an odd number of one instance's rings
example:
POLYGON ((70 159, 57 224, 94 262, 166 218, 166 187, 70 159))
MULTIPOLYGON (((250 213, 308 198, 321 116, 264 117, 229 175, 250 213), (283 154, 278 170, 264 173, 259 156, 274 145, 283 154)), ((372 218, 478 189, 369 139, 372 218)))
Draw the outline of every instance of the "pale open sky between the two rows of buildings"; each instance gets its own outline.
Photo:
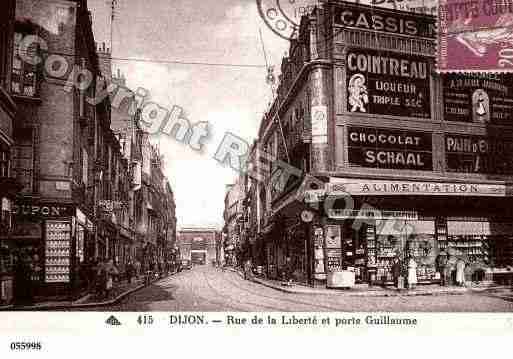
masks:
MULTIPOLYGON (((110 1, 89 0, 95 39, 110 42, 110 1)), ((288 42, 272 33, 255 0, 118 0, 113 32, 113 71, 132 89, 144 87, 152 101, 182 107, 192 123, 208 121, 213 136, 197 153, 166 135, 152 138, 164 155, 179 227, 223 225, 225 185, 237 173, 213 159, 226 131, 251 143, 271 101, 265 67, 220 67, 121 61, 144 58, 265 65, 280 64, 288 42)), ((279 67, 279 66, 277 66, 279 67)))

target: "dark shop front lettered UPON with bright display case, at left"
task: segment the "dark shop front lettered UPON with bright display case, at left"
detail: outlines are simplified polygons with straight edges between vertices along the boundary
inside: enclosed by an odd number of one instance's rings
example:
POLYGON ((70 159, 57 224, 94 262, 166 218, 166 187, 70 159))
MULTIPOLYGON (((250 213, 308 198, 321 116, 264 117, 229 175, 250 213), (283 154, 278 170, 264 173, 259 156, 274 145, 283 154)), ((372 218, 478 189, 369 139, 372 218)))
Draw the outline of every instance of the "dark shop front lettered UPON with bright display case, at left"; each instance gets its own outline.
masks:
POLYGON ((76 207, 17 202, 8 241, 15 248, 14 297, 19 301, 72 294, 76 207))

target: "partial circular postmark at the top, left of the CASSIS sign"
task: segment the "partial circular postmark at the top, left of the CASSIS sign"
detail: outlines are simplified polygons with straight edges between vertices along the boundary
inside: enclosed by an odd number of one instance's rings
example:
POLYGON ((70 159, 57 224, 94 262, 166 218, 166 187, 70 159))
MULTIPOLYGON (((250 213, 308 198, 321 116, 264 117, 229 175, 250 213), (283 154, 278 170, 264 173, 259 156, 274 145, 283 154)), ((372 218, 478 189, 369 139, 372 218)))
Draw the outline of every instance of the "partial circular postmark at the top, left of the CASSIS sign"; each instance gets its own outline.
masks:
POLYGON ((256 0, 260 17, 269 29, 285 40, 294 39, 303 15, 312 12, 318 0, 256 0))

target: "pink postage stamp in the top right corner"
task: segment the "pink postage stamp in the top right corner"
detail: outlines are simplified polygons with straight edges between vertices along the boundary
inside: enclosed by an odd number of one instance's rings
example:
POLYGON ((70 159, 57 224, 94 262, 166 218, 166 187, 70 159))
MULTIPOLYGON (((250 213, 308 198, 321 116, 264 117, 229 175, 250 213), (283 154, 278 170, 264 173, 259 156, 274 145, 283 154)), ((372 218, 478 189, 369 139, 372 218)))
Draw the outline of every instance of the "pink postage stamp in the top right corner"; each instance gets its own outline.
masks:
POLYGON ((512 0, 442 0, 440 72, 513 71, 512 0))

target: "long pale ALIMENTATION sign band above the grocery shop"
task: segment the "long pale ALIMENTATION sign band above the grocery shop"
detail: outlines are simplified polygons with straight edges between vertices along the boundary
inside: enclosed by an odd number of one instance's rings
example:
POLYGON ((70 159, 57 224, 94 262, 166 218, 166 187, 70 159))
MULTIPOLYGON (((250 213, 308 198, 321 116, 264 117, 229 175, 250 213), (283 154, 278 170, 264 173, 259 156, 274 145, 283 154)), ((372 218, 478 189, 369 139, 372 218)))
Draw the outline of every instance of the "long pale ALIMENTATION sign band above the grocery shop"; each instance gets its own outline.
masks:
POLYGON ((328 196, 354 195, 415 195, 415 196, 496 196, 511 195, 504 184, 381 181, 364 178, 332 178, 327 184, 328 196))

